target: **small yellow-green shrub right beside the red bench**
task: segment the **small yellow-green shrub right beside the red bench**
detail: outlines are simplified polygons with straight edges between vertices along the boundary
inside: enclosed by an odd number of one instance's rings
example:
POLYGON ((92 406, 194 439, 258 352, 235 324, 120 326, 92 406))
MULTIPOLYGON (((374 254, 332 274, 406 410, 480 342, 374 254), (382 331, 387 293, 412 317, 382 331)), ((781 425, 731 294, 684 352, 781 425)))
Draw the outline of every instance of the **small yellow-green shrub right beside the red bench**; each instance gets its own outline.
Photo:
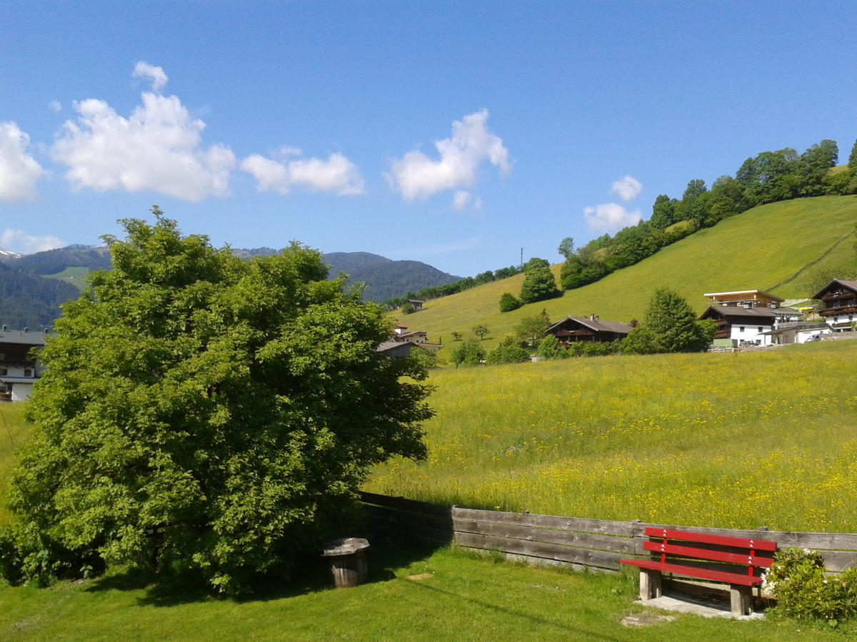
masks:
POLYGON ((824 558, 807 549, 778 550, 774 558, 763 588, 776 597, 775 613, 832 626, 857 615, 857 568, 827 576, 824 558))

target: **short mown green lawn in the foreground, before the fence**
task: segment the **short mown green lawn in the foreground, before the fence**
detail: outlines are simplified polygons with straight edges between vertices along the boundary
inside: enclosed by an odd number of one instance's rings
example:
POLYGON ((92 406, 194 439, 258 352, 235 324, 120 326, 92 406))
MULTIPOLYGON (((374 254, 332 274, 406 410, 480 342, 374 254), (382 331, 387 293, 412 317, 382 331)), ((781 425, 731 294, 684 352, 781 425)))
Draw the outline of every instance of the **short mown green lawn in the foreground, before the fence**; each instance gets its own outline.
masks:
POLYGON ((2 639, 842 639, 788 621, 706 620, 633 604, 635 574, 570 574, 453 550, 370 551, 370 583, 306 581, 243 601, 122 575, 0 589, 2 639), (625 627, 647 611, 648 627, 625 627))

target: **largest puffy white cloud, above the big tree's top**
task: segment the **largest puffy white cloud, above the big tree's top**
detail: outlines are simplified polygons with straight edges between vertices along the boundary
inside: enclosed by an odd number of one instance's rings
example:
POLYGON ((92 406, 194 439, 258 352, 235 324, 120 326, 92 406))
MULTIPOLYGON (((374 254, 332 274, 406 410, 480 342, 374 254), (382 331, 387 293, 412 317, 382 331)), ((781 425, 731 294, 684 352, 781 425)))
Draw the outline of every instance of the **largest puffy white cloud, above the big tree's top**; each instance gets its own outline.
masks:
POLYGON ((203 148, 206 124, 191 119, 176 96, 141 98, 128 118, 103 100, 74 104, 77 121, 65 122, 53 147, 53 158, 69 167, 66 179, 96 192, 152 190, 189 201, 227 195, 235 155, 225 146, 203 148))

